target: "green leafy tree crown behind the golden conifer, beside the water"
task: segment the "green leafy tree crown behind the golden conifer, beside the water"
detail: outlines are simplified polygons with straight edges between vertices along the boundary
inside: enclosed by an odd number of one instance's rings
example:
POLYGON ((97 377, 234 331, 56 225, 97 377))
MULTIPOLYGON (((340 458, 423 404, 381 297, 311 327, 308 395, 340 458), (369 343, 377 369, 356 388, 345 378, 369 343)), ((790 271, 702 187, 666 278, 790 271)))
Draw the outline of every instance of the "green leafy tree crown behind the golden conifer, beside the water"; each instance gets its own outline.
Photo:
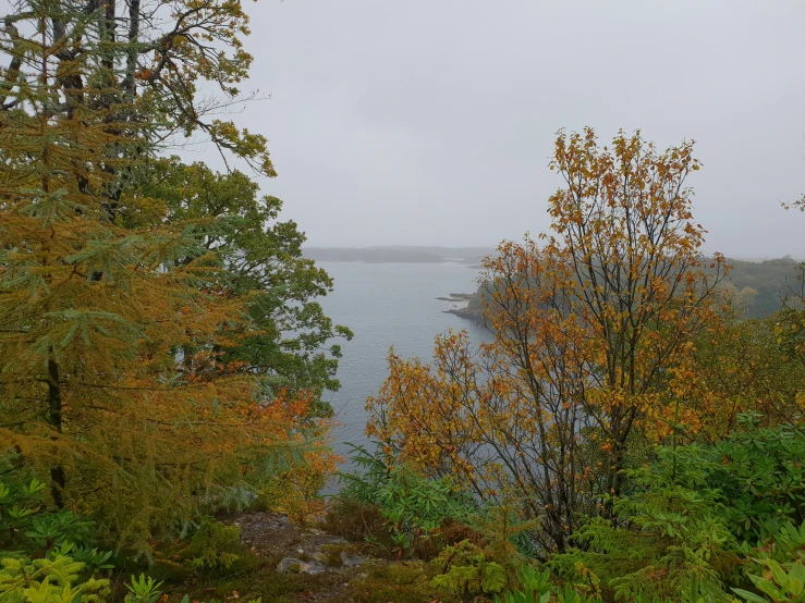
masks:
MULTIPOLYGON (((228 347, 223 360, 241 362, 275 385, 310 387, 318 395, 338 390, 341 346, 334 342, 352 332, 333 324, 317 302, 332 290, 332 279, 303 257, 305 235, 296 222, 280 220, 282 200, 260 196, 243 172, 217 173, 176 157, 138 165, 133 179, 138 185, 120 217, 126 227, 155 219, 194 224, 200 244, 180 261, 215 251, 221 286, 248 300, 254 332, 228 347)), ((318 398, 315 411, 331 414, 318 398)))

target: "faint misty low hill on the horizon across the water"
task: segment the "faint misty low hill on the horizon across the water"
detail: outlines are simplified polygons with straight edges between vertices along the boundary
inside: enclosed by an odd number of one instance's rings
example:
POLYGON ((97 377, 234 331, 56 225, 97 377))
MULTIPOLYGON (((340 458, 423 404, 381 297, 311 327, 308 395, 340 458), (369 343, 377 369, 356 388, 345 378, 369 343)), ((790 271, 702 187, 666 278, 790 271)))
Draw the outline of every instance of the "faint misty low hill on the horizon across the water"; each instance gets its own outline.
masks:
POLYGON ((305 247, 302 253, 316 261, 438 263, 458 261, 478 263, 493 253, 489 247, 426 247, 383 245, 378 247, 305 247))

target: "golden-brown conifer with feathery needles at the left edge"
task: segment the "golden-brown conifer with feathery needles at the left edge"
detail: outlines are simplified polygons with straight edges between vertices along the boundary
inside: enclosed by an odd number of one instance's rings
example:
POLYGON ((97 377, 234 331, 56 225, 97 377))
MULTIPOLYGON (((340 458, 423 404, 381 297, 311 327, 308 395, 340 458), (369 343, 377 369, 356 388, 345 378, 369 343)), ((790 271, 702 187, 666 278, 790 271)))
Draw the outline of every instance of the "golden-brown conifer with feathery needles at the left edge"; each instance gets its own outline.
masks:
POLYGON ((302 480, 330 458, 326 424, 308 419, 313 395, 266 395, 219 361, 254 325, 203 245, 208 225, 120 224, 127 174, 170 118, 157 95, 121 86, 138 42, 117 44, 109 3, 25 0, 3 30, 3 447, 49 472, 57 506, 144 551, 248 490, 294 479, 309 492, 302 480))

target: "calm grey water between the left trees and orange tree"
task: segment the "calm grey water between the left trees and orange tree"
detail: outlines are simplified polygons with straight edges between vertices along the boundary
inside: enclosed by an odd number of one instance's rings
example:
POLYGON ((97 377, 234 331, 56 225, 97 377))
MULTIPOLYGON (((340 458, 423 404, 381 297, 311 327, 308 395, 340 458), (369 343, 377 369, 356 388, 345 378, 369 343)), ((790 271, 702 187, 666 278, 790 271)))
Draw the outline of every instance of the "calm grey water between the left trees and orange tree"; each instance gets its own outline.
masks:
POLYGON ((475 342, 487 333, 472 320, 446 313, 454 302, 437 299, 475 291, 475 269, 456 263, 318 263, 336 282, 334 292, 321 306, 336 323, 355 333, 342 345, 341 389, 327 394, 341 423, 332 434, 333 444, 345 454, 345 442, 366 443, 366 398, 386 379, 392 346, 400 356, 427 361, 432 357, 434 339, 448 329, 466 329, 475 342))

